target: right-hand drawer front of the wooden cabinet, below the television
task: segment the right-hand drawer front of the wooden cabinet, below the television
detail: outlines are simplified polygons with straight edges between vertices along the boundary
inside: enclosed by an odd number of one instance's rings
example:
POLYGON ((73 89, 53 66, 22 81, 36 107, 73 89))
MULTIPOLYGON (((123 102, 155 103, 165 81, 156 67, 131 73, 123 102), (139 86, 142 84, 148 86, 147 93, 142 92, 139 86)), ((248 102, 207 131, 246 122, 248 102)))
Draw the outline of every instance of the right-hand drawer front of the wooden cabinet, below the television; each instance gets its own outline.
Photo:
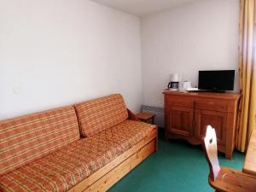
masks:
POLYGON ((223 101, 195 101, 195 108, 207 109, 212 111, 227 112, 229 106, 227 102, 223 101))

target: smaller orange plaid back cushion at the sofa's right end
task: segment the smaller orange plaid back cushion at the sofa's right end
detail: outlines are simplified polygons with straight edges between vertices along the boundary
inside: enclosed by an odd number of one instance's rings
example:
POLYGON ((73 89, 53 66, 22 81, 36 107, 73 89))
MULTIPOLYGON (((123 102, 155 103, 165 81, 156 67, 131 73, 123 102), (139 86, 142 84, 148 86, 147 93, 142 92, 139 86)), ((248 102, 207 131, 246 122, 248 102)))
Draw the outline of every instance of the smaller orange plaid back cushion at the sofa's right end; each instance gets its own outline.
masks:
POLYGON ((83 137, 93 136, 128 118, 124 99, 119 94, 78 103, 74 107, 83 137))

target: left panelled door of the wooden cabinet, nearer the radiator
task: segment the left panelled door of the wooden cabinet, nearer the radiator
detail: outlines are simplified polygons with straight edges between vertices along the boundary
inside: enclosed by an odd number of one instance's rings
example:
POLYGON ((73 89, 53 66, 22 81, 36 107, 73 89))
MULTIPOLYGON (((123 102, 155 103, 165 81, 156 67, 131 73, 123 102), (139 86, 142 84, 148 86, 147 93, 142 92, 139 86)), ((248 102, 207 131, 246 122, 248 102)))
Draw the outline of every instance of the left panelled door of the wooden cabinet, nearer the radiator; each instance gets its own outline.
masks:
POLYGON ((168 106, 168 131, 189 137, 192 134, 193 109, 168 106))

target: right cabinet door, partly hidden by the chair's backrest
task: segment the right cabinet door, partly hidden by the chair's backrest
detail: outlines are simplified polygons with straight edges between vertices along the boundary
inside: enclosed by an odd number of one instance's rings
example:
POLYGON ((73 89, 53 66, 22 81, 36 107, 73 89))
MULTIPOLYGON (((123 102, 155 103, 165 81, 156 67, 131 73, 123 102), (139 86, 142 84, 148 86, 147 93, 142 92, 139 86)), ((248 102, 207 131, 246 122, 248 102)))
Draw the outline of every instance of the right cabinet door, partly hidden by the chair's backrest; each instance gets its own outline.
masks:
POLYGON ((217 135, 217 143, 225 145, 228 113, 195 109, 196 137, 202 139, 206 136, 207 125, 211 125, 217 135))

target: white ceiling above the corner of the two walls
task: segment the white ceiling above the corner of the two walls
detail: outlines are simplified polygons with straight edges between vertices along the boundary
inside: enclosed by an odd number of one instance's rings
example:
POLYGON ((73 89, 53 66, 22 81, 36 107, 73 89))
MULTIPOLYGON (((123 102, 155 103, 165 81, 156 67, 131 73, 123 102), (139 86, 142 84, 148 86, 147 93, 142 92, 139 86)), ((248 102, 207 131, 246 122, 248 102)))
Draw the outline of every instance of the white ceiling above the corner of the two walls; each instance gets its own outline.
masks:
POLYGON ((198 0, 91 0, 126 13, 145 16, 198 0))

